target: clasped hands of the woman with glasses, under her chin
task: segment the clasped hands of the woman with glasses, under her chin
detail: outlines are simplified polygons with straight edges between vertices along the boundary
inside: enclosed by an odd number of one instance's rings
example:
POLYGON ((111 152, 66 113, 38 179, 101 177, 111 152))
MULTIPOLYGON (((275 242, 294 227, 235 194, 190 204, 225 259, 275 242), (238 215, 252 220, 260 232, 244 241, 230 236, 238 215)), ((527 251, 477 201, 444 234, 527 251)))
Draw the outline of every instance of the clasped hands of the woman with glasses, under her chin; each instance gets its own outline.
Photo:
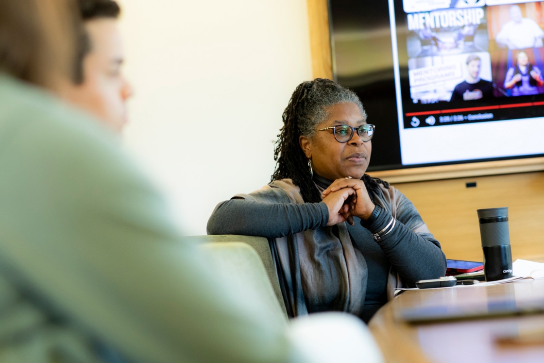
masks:
POLYGON ((329 208, 328 226, 344 221, 353 226, 354 216, 366 220, 375 208, 364 182, 360 179, 337 179, 323 191, 322 198, 329 208))

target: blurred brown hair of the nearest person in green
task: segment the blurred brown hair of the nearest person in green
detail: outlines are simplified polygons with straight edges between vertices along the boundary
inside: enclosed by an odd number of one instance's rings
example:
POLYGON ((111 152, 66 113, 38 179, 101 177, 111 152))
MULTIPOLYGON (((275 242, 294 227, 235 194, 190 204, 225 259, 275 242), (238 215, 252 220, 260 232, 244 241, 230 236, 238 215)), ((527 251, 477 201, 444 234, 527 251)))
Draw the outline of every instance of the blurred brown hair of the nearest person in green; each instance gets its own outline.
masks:
POLYGON ((0 0, 0 70, 48 88, 70 77, 75 10, 72 0, 0 0))

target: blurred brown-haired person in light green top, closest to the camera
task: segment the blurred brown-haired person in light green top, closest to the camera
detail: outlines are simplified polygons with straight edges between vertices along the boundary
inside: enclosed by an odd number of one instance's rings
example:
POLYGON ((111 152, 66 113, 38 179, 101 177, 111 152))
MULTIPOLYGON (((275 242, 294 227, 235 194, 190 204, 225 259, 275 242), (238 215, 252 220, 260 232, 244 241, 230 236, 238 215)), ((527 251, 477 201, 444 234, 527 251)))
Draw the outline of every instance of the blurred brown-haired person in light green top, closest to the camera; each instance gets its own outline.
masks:
POLYGON ((0 361, 323 361, 308 346, 368 358, 353 318, 314 322, 312 345, 304 322, 228 291, 114 134, 62 100, 75 11, 0 0, 0 361))

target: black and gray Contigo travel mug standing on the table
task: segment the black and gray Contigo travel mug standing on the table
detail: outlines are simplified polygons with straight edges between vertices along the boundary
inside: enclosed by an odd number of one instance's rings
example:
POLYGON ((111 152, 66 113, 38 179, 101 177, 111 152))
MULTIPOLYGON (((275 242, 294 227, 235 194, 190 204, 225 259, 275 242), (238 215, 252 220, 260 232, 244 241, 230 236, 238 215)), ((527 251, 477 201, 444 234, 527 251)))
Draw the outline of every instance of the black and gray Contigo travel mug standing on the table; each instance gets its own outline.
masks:
POLYGON ((476 211, 480 220, 481 248, 484 250, 486 281, 512 277, 512 250, 508 230, 508 207, 476 211))

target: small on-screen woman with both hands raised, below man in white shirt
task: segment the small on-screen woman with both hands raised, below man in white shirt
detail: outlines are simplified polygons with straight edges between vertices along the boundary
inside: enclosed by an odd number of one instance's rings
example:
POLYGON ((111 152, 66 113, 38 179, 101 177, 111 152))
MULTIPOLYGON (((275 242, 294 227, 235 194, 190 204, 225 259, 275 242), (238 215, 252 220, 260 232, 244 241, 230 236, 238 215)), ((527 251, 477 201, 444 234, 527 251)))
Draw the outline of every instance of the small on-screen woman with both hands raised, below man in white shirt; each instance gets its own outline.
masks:
POLYGON ((544 85, 540 69, 529 63, 527 53, 517 54, 517 64, 506 72, 504 88, 512 90, 512 96, 527 96, 541 93, 544 85))

